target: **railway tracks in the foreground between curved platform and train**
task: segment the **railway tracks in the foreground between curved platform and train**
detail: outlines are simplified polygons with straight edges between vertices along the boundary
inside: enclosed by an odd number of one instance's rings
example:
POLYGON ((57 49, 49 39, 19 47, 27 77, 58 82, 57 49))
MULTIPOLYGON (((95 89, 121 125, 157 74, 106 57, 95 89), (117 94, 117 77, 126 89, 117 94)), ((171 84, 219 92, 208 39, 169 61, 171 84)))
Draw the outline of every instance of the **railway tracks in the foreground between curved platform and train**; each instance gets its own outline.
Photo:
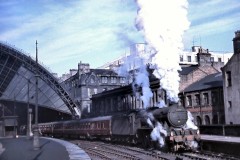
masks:
POLYGON ((237 160, 231 156, 207 152, 164 153, 99 141, 70 140, 70 142, 85 150, 92 160, 237 160))

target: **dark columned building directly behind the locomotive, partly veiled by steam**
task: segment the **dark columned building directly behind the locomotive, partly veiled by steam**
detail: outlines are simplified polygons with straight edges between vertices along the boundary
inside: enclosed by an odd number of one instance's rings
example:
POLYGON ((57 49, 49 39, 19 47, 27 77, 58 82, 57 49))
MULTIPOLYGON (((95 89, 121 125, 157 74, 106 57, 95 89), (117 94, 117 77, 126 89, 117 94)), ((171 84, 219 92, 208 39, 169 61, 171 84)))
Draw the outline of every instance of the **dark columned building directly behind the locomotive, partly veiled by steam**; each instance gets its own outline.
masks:
MULTIPOLYGON (((149 101, 149 108, 157 107, 159 102, 164 101, 166 105, 166 93, 160 89, 159 79, 150 79, 150 88, 153 93, 149 101)), ((92 96, 91 116, 107 116, 119 113, 129 113, 133 110, 144 109, 141 99, 142 91, 133 91, 132 85, 116 88, 92 96)))

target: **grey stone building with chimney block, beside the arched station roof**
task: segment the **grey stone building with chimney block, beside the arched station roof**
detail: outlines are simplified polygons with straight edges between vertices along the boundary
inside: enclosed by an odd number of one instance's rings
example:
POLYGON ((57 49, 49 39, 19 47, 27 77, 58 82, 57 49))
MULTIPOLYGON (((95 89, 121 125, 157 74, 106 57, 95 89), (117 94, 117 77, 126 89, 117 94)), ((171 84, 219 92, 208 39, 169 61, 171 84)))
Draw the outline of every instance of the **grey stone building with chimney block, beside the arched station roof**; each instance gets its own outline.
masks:
POLYGON ((70 94, 70 97, 79 106, 82 117, 90 113, 91 97, 128 84, 124 77, 118 76, 110 69, 90 69, 87 63, 79 63, 75 75, 65 80, 62 85, 70 94))

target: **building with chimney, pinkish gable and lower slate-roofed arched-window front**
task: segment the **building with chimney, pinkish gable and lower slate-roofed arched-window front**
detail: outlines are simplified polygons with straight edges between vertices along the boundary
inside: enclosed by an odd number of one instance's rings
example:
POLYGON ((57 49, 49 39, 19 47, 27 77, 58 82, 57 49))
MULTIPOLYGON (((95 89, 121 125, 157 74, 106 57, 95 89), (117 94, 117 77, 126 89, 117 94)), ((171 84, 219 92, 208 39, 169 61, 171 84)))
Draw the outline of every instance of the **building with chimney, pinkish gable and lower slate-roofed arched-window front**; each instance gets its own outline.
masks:
POLYGON ((224 62, 213 62, 211 57, 208 50, 199 48, 197 65, 182 65, 179 72, 180 99, 198 125, 225 122, 221 74, 224 62))

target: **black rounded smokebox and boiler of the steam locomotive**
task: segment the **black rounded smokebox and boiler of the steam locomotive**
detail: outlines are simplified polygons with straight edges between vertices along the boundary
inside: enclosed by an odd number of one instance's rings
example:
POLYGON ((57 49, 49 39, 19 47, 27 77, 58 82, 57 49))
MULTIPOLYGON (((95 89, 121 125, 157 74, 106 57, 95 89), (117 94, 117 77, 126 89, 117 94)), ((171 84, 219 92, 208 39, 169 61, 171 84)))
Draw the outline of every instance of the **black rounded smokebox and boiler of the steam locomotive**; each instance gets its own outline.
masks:
POLYGON ((178 104, 155 109, 152 114, 158 121, 166 121, 171 126, 178 128, 183 127, 188 119, 187 110, 178 104))

